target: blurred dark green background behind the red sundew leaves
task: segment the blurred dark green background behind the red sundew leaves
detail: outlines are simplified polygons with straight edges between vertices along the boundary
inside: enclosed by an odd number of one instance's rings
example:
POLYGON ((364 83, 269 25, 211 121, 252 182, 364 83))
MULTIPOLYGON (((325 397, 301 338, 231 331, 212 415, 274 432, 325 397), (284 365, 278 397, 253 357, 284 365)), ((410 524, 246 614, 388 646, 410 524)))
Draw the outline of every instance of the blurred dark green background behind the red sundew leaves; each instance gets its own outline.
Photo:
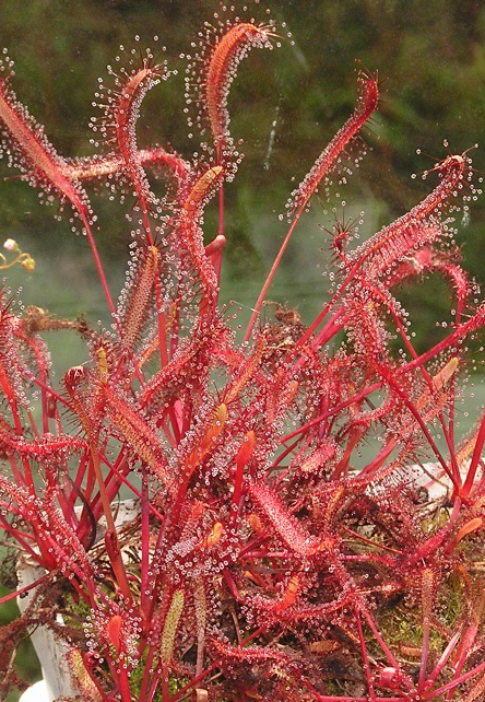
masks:
MULTIPOLYGON (((383 91, 379 113, 365 133, 371 150, 345 189, 333 188, 330 207, 315 199, 276 276, 269 297, 298 306, 309 321, 321 308, 328 285, 322 278, 329 260, 323 227, 332 207, 347 217, 365 212, 363 235, 392 221, 422 199, 436 180, 411 179, 446 154, 482 141, 485 124, 485 4, 478 0, 268 0, 249 3, 242 17, 265 16, 265 8, 285 37, 271 52, 255 50, 240 66, 229 97, 232 131, 242 139, 245 160, 228 185, 228 247, 222 299, 236 300, 247 318, 279 244, 285 223, 277 214, 286 198, 312 165, 326 143, 351 114, 356 96, 356 70, 379 71, 383 91), (358 61, 356 63, 356 60, 358 61), (416 154, 416 149, 430 154, 416 154), (326 210, 328 212, 326 213, 326 210)), ((237 7, 241 8, 242 3, 237 7)), ((170 68, 178 75, 155 87, 141 110, 141 147, 170 144, 190 156, 197 139, 188 138, 184 118, 184 52, 220 2, 214 0, 2 0, 0 46, 15 61, 12 86, 21 102, 46 128, 64 156, 93 153, 87 122, 98 77, 114 61, 118 47, 166 45, 170 68)), ((484 150, 472 152, 474 166, 485 169, 484 150)), ((13 237, 37 261, 35 272, 9 274, 24 304, 60 316, 83 313, 91 321, 108 320, 87 243, 70 231, 67 217, 54 220, 57 207, 40 207, 37 194, 0 162, 1 237, 13 237), (12 177, 13 176, 13 177, 12 177)), ((476 174, 476 180, 481 177, 476 174)), ((163 185, 161 185, 163 191, 163 185)), ((103 188, 100 188, 103 190, 103 188)), ((113 292, 123 280, 130 242, 126 209, 117 199, 93 195, 96 232, 113 292)), ((458 220, 458 241, 465 267, 485 281, 485 199, 473 203, 470 219, 458 220)), ((129 209, 129 208, 128 208, 129 209)), ((206 235, 215 226, 209 209, 206 235)), ((0 237, 0 238, 1 238, 0 237)), ((416 346, 439 338, 436 323, 449 318, 446 284, 434 278, 400 293, 413 319, 416 346)), ((61 332, 52 347, 58 374, 83 360, 81 343, 61 332)), ((483 397, 478 386, 473 401, 483 397)), ((468 410, 466 410, 468 411, 468 410)), ((466 422, 465 422, 466 423, 466 422)), ((12 607, 0 607, 3 620, 12 607)), ((28 656, 23 674, 35 677, 28 656)), ((37 671, 38 675, 38 671, 37 671)), ((13 699, 13 698, 12 698, 13 699)))

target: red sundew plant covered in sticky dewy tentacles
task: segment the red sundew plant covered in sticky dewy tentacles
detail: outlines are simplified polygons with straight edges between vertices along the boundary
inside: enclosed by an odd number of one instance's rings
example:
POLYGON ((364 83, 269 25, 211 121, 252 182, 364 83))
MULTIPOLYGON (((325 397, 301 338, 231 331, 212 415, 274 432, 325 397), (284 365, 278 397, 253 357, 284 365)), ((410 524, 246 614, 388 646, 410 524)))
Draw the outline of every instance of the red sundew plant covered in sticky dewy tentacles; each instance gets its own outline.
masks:
MULTIPOLYGON (((456 212, 480 194, 470 155, 448 151, 423 201, 363 243, 358 223, 335 219, 311 323, 268 304, 310 199, 332 207, 332 184, 364 155, 379 82, 362 70, 355 109, 292 194, 280 253, 234 331, 237 312, 218 301, 224 190, 242 157, 228 92, 250 49, 287 44, 253 9, 222 8, 189 49, 180 110, 201 137, 192 155, 137 141, 146 92, 170 78, 158 50, 120 50, 95 94, 96 153, 83 159, 57 153, 4 54, 2 153, 85 235, 113 325, 23 309, 3 284, 0 526, 9 554, 43 570, 0 600, 31 597, 0 632, 2 695, 19 683, 17 642, 46 627, 92 702, 484 699, 485 418, 465 436, 456 426, 466 347, 485 324, 453 243, 456 212), (90 202, 106 189, 132 229, 118 300, 90 202), (218 229, 204 233, 209 203, 218 229), (394 295, 434 274, 449 282, 452 324, 417 353, 394 295), (90 361, 58 382, 47 342, 66 328, 90 361), (137 505, 122 525, 121 490, 137 505)), ((3 268, 33 271, 16 242, 5 248, 3 268)))

